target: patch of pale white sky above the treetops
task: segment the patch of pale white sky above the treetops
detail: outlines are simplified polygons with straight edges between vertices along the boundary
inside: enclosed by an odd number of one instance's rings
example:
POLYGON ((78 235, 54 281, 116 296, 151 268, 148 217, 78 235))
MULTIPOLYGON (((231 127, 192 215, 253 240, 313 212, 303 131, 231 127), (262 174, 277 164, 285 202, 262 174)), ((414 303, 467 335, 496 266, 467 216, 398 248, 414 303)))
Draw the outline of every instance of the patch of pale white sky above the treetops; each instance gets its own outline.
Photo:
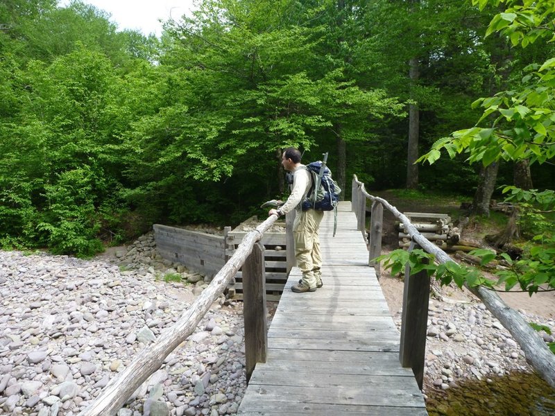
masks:
MULTIPOLYGON (((60 1, 60 7, 67 6, 71 0, 60 1)), ((110 21, 117 24, 118 30, 135 29, 144 35, 162 34, 162 24, 158 19, 167 20, 170 16, 178 20, 182 15, 190 15, 193 0, 83 0, 83 3, 110 13, 110 21)))

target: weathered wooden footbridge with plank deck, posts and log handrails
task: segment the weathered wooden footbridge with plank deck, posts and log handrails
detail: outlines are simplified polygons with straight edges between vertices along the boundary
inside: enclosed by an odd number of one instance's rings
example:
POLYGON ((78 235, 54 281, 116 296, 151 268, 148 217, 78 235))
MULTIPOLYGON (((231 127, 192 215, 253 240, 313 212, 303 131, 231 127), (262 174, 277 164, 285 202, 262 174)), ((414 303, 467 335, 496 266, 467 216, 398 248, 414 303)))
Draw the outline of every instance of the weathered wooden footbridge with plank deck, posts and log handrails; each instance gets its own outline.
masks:
MULTIPOLYGON (((438 263, 452 261, 422 236, 407 216, 386 200, 370 196, 355 176, 352 202, 339 207, 336 236, 332 237, 332 214, 326 214, 321 225, 323 288, 291 292, 291 286, 300 279, 298 269, 291 268, 268 330, 264 245, 260 241, 277 216, 267 218, 244 236, 179 320, 110 380, 78 416, 116 415, 133 392, 196 330, 239 269, 249 381, 240 415, 427 415, 420 388, 430 280, 425 271, 411 273, 407 266, 399 333, 376 278, 379 263, 373 263, 382 245, 384 207, 400 219, 411 237, 409 250, 421 247, 434 254, 438 263), (363 238, 367 200, 372 201, 368 248, 363 238)), ((291 227, 291 218, 287 225, 291 227)), ((288 252, 291 247, 287 243, 288 252)), ((481 287, 471 290, 518 340, 536 370, 555 385, 550 370, 555 368, 553 355, 538 333, 495 292, 481 287)))

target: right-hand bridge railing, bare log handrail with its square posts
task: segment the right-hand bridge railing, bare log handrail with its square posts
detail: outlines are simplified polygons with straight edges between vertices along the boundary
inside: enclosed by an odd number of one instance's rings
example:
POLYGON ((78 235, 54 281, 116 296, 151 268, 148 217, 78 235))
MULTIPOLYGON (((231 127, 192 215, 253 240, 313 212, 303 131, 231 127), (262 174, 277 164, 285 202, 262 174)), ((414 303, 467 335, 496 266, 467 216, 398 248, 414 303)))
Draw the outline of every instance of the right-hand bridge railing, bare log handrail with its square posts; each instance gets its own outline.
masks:
MULTIPOLYGON (((451 257, 422 236, 420 232, 411 224, 409 218, 404 216, 393 205, 377 196, 370 195, 364 189, 364 183, 359 182, 356 175, 352 180, 352 210, 358 218, 359 230, 364 232, 366 218, 366 198, 370 199, 372 205, 372 216, 370 218, 370 244, 369 261, 372 265, 373 259, 381 252, 381 226, 382 214, 375 205, 386 207, 388 211, 398 218, 404 225, 405 232, 411 238, 412 248, 418 246, 430 254, 434 254, 438 263, 453 261, 451 257), (361 203, 365 200, 365 203, 361 203), (377 215, 376 218, 374 216, 377 215), (360 225, 363 224, 362 228, 360 225), (373 241, 374 240, 374 241, 373 241), (379 240, 379 247, 378 247, 379 240)), ((377 266, 377 265, 376 265, 377 266)), ((377 269, 379 271, 379 269, 377 269)), ((377 273, 379 274, 379 272, 377 273)), ((422 388, 422 369, 424 367, 424 352, 426 344, 426 322, 428 315, 427 299, 429 298, 429 279, 425 279, 426 272, 411 276, 407 265, 405 269, 404 294, 401 324, 401 345, 400 361, 403 367, 411 367, 415 374, 418 385, 422 388), (421 275, 420 275, 421 274, 421 275), (425 299, 422 298, 425 293, 425 299)), ((524 352, 524 356, 540 376, 555 388, 555 354, 553 354, 539 333, 536 332, 522 315, 508 306, 502 299, 488 288, 483 286, 466 288, 477 296, 486 308, 501 322, 501 324, 511 333, 524 352)))

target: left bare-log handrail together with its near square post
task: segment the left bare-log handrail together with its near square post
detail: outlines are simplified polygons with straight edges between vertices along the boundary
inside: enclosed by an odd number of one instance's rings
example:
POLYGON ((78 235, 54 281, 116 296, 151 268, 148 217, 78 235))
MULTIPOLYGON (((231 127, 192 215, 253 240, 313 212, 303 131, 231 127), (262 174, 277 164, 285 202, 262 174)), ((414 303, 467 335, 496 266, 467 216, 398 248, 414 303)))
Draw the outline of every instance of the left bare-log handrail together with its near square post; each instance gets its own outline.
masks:
POLYGON ((247 380, 256 363, 266 362, 266 279, 264 278, 264 245, 260 239, 278 217, 268 217, 248 232, 207 288, 184 311, 171 327, 145 347, 132 363, 108 385, 78 416, 113 416, 133 392, 164 363, 164 359, 196 329, 210 306, 223 293, 232 278, 243 267, 245 360, 247 380))

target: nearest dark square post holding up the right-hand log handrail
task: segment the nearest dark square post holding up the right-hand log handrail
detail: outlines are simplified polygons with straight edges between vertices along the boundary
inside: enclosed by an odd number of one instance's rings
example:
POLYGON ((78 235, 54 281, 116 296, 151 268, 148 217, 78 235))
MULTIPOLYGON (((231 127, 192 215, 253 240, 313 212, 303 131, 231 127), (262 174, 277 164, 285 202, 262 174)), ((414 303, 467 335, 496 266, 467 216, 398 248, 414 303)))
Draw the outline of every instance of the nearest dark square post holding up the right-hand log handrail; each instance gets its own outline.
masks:
MULTIPOLYGON (((419 246, 412 241, 409 252, 415 248, 419 248, 419 246)), ((426 270, 412 276, 410 272, 407 263, 404 270, 399 361, 403 367, 412 368, 418 387, 422 390, 430 278, 426 270)))

